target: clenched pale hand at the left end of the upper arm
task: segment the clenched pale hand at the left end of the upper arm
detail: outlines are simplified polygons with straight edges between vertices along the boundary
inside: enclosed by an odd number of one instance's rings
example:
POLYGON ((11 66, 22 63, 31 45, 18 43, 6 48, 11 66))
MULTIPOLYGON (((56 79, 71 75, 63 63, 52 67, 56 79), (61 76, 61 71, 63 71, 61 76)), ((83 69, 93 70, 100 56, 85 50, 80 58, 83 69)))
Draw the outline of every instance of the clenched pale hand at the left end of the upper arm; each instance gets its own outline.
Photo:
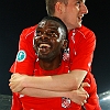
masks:
POLYGON ((26 80, 29 76, 26 75, 20 75, 20 74, 13 74, 11 75, 11 78, 9 79, 10 89, 12 92, 19 92, 24 89, 23 82, 26 80))

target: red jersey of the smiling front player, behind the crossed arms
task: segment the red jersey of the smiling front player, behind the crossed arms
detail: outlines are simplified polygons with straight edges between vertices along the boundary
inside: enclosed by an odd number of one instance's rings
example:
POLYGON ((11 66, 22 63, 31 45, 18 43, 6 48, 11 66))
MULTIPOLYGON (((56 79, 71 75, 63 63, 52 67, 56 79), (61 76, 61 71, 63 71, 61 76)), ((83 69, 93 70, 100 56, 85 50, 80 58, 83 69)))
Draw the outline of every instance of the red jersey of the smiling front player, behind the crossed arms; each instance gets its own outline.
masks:
MULTIPOLYGON (((34 76, 47 76, 47 75, 61 75, 68 73, 69 65, 67 61, 63 61, 62 65, 54 70, 43 70, 38 62, 35 63, 34 76)), ((88 74, 85 78, 86 82, 90 84, 90 88, 85 88, 89 98, 85 108, 87 110, 100 110, 97 97, 97 86, 91 74, 88 74)), ((13 94, 13 103, 11 110, 82 110, 81 106, 72 102, 66 98, 36 98, 29 97, 19 94, 13 94)))

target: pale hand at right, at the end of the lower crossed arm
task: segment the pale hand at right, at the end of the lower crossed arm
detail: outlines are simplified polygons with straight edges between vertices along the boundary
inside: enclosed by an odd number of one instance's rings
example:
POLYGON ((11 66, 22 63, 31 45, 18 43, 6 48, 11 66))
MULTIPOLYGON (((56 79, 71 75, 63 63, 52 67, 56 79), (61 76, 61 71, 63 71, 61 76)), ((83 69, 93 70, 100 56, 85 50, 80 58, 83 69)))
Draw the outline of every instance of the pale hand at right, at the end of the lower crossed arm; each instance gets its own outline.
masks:
POLYGON ((87 102, 87 98, 89 98, 88 92, 84 89, 84 87, 90 87, 87 82, 82 82, 78 90, 70 91, 69 99, 77 105, 84 106, 87 102))

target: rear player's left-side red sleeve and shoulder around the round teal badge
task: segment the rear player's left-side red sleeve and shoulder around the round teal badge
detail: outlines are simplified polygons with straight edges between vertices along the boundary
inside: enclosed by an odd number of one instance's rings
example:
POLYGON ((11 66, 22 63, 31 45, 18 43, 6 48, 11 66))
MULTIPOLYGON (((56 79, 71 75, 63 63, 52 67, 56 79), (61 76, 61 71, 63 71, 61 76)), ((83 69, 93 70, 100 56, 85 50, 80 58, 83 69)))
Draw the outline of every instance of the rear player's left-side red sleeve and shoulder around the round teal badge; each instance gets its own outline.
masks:
POLYGON ((26 54, 26 57, 23 62, 15 62, 10 68, 11 73, 21 73, 26 75, 33 75, 34 70, 34 64, 36 61, 36 55, 33 48, 33 36, 35 26, 23 30, 23 32, 20 35, 20 42, 19 42, 19 51, 24 51, 26 54))

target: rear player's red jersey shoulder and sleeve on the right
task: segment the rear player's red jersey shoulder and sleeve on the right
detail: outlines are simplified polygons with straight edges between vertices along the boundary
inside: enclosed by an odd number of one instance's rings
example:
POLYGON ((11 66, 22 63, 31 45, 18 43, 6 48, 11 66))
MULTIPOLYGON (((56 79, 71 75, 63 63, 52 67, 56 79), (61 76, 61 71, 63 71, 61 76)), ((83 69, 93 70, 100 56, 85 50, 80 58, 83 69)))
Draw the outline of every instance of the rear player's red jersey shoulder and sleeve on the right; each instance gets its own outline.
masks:
POLYGON ((69 33, 70 70, 84 69, 89 72, 96 46, 95 34, 81 26, 69 33), (73 35, 74 34, 74 35, 73 35))

